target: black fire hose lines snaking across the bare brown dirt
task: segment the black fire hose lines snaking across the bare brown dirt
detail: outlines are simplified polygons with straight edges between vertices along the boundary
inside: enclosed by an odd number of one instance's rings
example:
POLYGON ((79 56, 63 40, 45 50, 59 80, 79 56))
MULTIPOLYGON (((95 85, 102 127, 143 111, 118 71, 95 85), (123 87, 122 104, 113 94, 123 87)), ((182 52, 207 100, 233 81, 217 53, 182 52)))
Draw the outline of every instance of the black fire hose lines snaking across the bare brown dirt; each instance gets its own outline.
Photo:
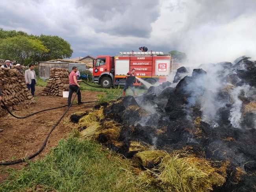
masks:
MULTIPOLYGON (((78 90, 79 90, 79 88, 78 88, 78 90)), ((78 90, 76 91, 76 95, 77 95, 77 93, 78 93, 78 90)), ((26 160, 30 160, 30 159, 32 159, 33 157, 39 155, 39 153, 41 153, 41 151, 44 150, 44 148, 45 148, 45 146, 46 146, 46 143, 47 143, 47 141, 48 141, 48 138, 50 137, 52 131, 54 131, 54 129, 58 126, 58 124, 59 124, 59 122, 61 121, 61 119, 62 119, 62 118, 65 116, 65 114, 69 111, 69 109, 70 109, 72 103, 74 102, 74 100, 75 100, 75 98, 76 98, 76 95, 74 96, 74 98, 73 98, 71 104, 69 105, 69 107, 67 108, 67 110, 66 110, 66 111, 62 114, 62 116, 59 118, 58 122, 56 122, 56 124, 52 127, 52 129, 51 129, 50 132, 48 133, 47 137, 45 138, 45 141, 44 141, 43 145, 41 146, 41 148, 40 148, 37 152, 35 152, 33 155, 30 155, 30 156, 27 157, 27 158, 19 159, 19 160, 16 160, 16 161, 0 162, 0 165, 11 165, 11 164, 17 164, 17 163, 25 162, 26 160)), ((94 101, 94 102, 96 102, 96 101, 94 101)), ((29 117, 29 116, 32 116, 32 115, 34 115, 34 114, 37 114, 37 113, 40 113, 40 112, 43 112, 43 111, 48 111, 48 110, 58 109, 58 108, 61 108, 61 107, 68 106, 68 105, 63 105, 63 106, 60 106, 60 107, 54 107, 54 108, 50 108, 50 109, 45 109, 45 110, 42 110, 42 111, 38 111, 38 112, 36 112, 36 113, 32 113, 32 114, 27 115, 27 116, 24 116, 24 117, 17 117, 17 116, 15 116, 14 114, 12 114, 12 113, 9 111, 9 109, 7 108, 7 106, 5 105, 5 103, 4 103, 3 101, 2 101, 2 103, 4 104, 4 107, 5 107, 5 109, 8 111, 8 113, 10 113, 10 114, 11 114, 13 117, 15 117, 15 118, 27 118, 27 117, 29 117)), ((93 103, 93 102, 84 102, 84 103, 93 103)))

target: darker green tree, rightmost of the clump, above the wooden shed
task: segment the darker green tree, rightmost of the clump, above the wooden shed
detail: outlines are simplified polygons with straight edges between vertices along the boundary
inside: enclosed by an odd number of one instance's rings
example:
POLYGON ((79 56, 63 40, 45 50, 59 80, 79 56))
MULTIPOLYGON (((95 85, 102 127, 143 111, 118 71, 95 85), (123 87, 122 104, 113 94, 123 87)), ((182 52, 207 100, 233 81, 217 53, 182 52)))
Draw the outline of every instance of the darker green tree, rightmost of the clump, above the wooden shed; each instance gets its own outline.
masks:
POLYGON ((64 59, 71 57, 73 50, 69 42, 61 37, 51 35, 40 35, 39 40, 43 42, 49 51, 41 55, 41 61, 49 61, 52 59, 64 59))

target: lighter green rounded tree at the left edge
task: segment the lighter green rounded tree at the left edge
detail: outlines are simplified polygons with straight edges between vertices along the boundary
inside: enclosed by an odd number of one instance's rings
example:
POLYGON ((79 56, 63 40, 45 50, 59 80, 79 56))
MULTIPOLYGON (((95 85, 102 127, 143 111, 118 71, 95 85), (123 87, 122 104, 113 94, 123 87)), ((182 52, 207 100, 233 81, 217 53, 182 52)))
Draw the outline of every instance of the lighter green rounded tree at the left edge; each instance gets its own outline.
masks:
POLYGON ((11 59, 23 65, 35 63, 49 50, 41 41, 24 35, 7 37, 0 41, 0 58, 11 59))

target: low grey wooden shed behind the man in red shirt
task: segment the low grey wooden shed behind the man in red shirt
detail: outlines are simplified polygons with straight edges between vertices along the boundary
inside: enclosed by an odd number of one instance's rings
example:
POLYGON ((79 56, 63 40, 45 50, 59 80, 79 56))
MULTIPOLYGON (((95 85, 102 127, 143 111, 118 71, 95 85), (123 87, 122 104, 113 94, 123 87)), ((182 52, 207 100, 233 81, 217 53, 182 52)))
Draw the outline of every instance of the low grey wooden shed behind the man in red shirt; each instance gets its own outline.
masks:
POLYGON ((65 68, 72 71, 72 67, 76 66, 78 70, 84 71, 86 69, 85 63, 65 63, 65 62, 40 62, 39 63, 39 78, 48 79, 50 77, 51 68, 65 68))

